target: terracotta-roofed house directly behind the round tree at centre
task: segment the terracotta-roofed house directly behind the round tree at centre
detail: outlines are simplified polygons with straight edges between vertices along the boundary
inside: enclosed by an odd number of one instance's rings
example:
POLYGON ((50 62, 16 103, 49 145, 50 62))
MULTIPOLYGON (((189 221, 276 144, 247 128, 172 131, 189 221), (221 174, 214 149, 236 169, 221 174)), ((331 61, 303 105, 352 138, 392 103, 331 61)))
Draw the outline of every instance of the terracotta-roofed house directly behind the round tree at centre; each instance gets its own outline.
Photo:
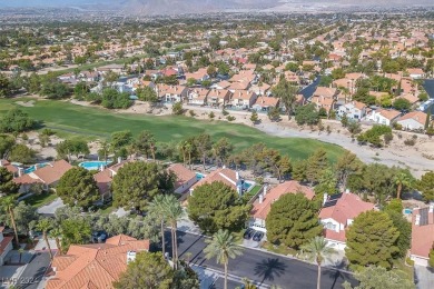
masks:
POLYGON ((220 181, 229 186, 230 188, 236 190, 238 195, 243 193, 244 179, 239 176, 239 172, 227 168, 220 168, 208 173, 207 176, 201 178, 198 182, 196 182, 196 185, 190 188, 190 195, 194 193, 194 190, 197 187, 200 187, 201 185, 205 183, 213 183, 215 181, 220 181))

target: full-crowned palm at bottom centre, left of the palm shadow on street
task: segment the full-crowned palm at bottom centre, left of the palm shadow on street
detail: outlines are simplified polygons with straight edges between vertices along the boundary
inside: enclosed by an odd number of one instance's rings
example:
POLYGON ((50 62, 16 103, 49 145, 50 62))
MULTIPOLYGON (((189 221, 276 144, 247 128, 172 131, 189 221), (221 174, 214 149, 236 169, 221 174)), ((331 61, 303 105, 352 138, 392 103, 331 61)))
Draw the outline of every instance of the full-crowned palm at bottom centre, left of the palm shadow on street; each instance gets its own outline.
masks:
POLYGON ((227 266, 229 258, 235 259, 235 257, 240 256, 241 248, 238 247, 235 242, 234 236, 228 230, 218 230, 213 236, 213 239, 206 240, 208 246, 204 249, 205 258, 213 259, 214 257, 217 260, 217 263, 223 263, 225 267, 225 289, 227 289, 227 266))

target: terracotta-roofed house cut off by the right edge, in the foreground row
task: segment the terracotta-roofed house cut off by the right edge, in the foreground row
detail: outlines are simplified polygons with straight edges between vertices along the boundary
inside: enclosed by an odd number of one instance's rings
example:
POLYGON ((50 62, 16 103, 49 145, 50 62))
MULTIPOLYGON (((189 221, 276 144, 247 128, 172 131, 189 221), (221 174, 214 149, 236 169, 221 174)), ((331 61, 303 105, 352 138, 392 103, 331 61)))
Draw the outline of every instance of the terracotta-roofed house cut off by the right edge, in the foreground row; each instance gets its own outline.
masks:
POLYGON ((434 205, 413 210, 410 257, 420 266, 428 266, 430 250, 434 248, 434 205))

